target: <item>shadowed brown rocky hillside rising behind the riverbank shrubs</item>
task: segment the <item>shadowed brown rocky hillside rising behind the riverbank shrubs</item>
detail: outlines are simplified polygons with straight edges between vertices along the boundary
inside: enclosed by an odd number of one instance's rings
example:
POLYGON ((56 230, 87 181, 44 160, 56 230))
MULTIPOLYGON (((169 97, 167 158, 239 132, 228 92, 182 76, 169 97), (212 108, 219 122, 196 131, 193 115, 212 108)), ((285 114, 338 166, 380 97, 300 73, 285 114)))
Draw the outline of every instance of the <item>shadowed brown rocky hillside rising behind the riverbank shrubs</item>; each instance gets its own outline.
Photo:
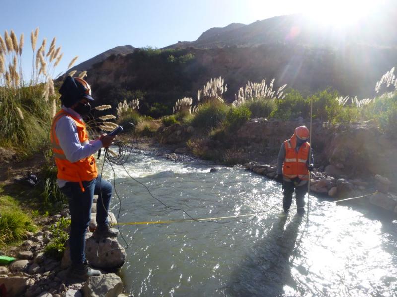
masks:
POLYGON ((129 54, 104 59, 117 47, 75 68, 89 71, 98 103, 123 100, 120 89, 139 90, 141 112, 155 102, 171 110, 177 99, 196 98, 197 90, 216 76, 225 79, 229 102, 248 81, 264 78, 304 95, 333 87, 343 96, 372 97, 375 83, 397 65, 396 11, 384 9, 346 30, 316 25, 302 15, 233 23, 162 51, 125 46, 129 54))

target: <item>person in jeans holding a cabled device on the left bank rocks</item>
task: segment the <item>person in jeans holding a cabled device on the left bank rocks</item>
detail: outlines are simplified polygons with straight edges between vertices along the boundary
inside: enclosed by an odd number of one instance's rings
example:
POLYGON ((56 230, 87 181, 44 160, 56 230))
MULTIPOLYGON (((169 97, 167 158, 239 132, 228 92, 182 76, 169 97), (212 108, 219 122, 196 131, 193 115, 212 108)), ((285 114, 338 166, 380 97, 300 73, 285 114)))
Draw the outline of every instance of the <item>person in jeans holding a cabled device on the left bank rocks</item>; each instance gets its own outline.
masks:
POLYGON ((108 209, 112 197, 112 185, 101 179, 92 155, 102 147, 109 147, 114 136, 101 135, 97 140, 88 140, 82 116, 91 111, 91 87, 83 79, 66 77, 59 89, 62 109, 54 116, 51 127, 51 144, 61 192, 69 200, 71 216, 70 257, 72 265, 68 276, 86 280, 100 275, 99 270, 88 266, 85 259, 85 234, 91 219, 94 194, 99 195, 96 213, 97 239, 116 237, 118 231, 108 224, 108 209))

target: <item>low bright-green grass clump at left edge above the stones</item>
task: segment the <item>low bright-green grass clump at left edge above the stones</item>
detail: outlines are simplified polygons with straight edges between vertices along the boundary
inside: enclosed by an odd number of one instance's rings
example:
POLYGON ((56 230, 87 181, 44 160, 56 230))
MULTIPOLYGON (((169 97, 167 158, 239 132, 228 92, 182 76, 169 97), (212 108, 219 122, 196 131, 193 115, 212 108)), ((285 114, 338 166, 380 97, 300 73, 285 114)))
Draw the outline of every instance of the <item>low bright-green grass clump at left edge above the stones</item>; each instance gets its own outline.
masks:
POLYGON ((22 239, 26 231, 35 231, 31 218, 20 209, 6 210, 0 216, 0 239, 4 243, 22 239))

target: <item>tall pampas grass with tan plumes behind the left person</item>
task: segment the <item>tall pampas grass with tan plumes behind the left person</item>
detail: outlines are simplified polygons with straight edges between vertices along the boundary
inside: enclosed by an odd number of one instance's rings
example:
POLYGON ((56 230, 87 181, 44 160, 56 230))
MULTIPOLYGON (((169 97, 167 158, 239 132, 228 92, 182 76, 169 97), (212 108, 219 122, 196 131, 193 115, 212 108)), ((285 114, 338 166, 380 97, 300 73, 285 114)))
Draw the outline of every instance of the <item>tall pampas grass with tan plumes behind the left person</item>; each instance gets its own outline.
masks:
POLYGON ((56 38, 46 49, 44 38, 36 50, 39 29, 31 32, 30 77, 22 70, 24 35, 13 30, 0 35, 0 146, 29 153, 49 141, 51 119, 60 106, 52 76, 63 54, 56 38))

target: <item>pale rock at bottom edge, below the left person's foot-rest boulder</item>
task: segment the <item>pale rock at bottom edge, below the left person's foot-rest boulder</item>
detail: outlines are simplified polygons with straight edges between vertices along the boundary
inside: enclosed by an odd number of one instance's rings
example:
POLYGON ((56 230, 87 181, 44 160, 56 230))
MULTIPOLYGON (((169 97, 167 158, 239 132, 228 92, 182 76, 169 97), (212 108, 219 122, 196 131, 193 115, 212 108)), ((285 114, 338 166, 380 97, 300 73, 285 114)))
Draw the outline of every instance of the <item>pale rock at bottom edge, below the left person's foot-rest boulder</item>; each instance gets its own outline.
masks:
POLYGON ((84 284, 84 296, 117 297, 123 291, 123 283, 116 274, 108 273, 90 277, 84 284))

